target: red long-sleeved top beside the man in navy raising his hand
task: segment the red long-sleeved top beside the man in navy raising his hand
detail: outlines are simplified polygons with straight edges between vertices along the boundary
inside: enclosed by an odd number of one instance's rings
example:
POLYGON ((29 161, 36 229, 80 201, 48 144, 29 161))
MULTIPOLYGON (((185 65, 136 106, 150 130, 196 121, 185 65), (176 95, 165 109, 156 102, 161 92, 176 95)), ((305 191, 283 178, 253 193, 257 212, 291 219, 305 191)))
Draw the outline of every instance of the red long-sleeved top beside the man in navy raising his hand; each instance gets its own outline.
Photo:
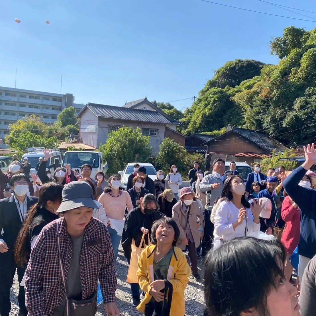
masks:
POLYGON ((292 204, 290 197, 286 196, 281 211, 282 219, 286 222, 281 241, 289 254, 292 254, 298 245, 301 228, 300 209, 298 206, 294 208, 292 204))

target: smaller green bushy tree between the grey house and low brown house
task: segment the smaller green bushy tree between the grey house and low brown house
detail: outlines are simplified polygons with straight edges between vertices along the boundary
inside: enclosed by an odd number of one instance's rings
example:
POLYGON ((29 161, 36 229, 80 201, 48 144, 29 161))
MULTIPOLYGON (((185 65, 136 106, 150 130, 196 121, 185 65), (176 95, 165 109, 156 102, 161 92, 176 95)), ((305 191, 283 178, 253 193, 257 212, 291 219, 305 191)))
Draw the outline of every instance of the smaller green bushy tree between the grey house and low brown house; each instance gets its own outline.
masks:
POLYGON ((183 179, 187 179, 187 173, 192 168, 194 161, 199 161, 201 167, 205 167, 205 159, 201 154, 190 155, 186 149, 173 139, 165 138, 159 146, 156 157, 156 167, 165 174, 169 173, 172 165, 177 165, 183 179))

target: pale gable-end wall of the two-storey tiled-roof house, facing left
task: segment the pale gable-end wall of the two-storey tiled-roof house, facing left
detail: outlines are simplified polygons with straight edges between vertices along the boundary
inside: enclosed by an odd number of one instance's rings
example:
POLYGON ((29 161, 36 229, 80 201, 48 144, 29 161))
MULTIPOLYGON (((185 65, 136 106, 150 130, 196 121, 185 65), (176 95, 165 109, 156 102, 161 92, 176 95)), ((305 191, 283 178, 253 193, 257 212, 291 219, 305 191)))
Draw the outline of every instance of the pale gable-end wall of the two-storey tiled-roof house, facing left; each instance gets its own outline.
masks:
POLYGON ((98 144, 98 117, 89 109, 86 109, 80 118, 79 139, 81 143, 97 148, 98 144))

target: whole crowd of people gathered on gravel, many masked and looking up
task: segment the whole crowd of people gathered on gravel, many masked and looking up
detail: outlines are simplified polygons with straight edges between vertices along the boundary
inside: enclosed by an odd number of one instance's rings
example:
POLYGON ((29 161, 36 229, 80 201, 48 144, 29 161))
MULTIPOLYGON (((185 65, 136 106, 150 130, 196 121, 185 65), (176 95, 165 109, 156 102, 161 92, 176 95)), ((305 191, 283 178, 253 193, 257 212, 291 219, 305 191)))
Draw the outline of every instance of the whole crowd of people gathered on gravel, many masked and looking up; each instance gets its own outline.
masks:
POLYGON ((176 165, 152 180, 136 163, 127 190, 117 174, 91 179, 88 164, 57 161, 51 174, 47 149, 36 174, 14 157, 0 171, 0 315, 15 272, 19 315, 95 315, 98 290, 107 315, 119 315, 120 244, 131 304, 145 316, 184 316, 190 276, 204 277, 205 316, 314 315, 316 149, 304 150, 292 173, 255 163, 246 184, 221 158, 212 172, 195 162, 182 188, 176 165))

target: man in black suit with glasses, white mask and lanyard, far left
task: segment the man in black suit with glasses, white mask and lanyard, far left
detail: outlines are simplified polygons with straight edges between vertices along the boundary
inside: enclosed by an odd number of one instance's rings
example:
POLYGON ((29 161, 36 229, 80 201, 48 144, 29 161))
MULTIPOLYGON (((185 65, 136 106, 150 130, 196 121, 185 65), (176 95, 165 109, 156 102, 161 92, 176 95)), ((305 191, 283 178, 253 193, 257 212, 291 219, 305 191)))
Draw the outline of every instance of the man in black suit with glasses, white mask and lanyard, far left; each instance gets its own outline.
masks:
MULTIPOLYGON (((25 174, 15 174, 10 179, 14 194, 0 200, 0 315, 9 316, 11 310, 10 289, 15 270, 21 283, 25 269, 17 268, 14 260, 15 241, 27 217, 27 210, 38 202, 37 197, 29 197, 28 178, 25 174), (2 234, 3 231, 3 234, 2 234)), ((26 316, 24 287, 20 286, 19 316, 26 316)))

